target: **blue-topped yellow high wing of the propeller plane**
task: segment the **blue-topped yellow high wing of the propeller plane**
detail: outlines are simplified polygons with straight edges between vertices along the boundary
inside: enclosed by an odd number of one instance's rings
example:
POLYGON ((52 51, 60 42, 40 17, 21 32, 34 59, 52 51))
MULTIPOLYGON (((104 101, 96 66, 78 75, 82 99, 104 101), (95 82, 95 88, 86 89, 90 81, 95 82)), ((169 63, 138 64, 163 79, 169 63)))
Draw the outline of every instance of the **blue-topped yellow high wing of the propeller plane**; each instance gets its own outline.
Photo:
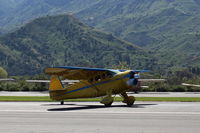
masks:
MULTIPOLYGON (((72 67, 72 66, 61 66, 46 68, 45 73, 49 75, 63 76, 65 79, 69 80, 88 80, 91 77, 97 75, 113 76, 119 72, 124 72, 126 70, 116 70, 116 69, 103 69, 103 68, 89 68, 89 67, 72 67)), ((146 70, 131 70, 134 72, 146 72, 146 70)))

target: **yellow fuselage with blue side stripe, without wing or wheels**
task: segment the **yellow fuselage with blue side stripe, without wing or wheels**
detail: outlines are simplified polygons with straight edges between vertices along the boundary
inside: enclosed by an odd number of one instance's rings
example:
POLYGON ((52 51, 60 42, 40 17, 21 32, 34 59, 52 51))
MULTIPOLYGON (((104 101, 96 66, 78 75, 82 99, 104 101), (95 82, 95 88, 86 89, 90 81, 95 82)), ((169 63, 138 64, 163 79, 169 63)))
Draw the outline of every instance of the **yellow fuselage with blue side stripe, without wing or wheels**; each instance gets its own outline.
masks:
POLYGON ((112 94, 119 94, 130 89, 126 84, 129 79, 126 75, 129 72, 130 71, 120 72, 112 78, 105 78, 96 82, 89 82, 86 80, 80 81, 62 90, 50 90, 50 97, 53 100, 94 98, 104 96, 110 90, 112 94))

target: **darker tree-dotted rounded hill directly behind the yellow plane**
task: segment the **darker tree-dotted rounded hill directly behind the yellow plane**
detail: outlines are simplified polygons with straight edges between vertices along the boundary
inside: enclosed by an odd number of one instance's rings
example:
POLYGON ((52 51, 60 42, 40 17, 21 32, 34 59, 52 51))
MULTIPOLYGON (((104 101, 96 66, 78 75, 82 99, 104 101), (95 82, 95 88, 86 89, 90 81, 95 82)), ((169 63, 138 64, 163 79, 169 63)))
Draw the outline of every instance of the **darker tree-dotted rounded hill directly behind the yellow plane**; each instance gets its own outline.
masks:
POLYGON ((35 74, 58 65, 133 69, 156 62, 138 46, 84 25, 71 15, 37 18, 0 38, 0 66, 9 74, 35 74))

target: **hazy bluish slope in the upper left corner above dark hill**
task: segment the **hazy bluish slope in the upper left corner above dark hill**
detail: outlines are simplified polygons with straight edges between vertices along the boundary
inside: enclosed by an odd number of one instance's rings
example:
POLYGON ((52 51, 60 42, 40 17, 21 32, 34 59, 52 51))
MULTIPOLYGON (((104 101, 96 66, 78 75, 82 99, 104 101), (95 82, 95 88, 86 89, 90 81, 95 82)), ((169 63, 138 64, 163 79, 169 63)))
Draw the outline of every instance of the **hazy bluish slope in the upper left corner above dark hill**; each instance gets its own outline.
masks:
POLYGON ((21 27, 39 16, 75 13, 99 0, 0 0, 0 33, 21 27))

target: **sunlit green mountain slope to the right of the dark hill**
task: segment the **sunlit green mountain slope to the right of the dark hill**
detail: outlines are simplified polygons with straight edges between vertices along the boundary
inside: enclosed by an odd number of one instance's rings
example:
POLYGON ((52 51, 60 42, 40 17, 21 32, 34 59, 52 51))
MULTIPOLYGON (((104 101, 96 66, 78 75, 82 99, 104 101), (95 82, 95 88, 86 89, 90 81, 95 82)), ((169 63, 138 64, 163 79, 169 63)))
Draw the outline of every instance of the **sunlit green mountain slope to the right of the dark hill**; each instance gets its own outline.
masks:
POLYGON ((151 50, 162 68, 200 67, 198 0, 101 0, 77 16, 151 50))

